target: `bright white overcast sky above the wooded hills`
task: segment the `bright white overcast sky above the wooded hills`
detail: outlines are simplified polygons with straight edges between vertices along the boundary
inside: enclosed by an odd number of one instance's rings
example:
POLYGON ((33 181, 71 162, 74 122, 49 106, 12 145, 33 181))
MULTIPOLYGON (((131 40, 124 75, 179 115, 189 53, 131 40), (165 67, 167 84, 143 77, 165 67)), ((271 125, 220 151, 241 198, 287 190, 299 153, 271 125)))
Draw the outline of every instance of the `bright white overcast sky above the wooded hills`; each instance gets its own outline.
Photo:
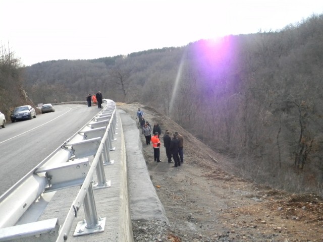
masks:
POLYGON ((279 30, 322 0, 0 0, 0 45, 23 65, 279 30))

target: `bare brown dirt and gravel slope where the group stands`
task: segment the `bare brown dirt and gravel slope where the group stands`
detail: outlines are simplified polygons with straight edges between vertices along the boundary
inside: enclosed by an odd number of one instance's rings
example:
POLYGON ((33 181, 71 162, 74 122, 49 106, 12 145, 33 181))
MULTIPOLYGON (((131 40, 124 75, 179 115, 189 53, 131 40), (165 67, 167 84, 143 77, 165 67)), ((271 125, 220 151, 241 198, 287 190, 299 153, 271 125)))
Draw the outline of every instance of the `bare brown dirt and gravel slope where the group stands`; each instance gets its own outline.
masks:
POLYGON ((184 137, 184 164, 172 167, 163 143, 162 162, 156 163, 142 135, 150 177, 171 224, 168 241, 323 241, 322 198, 288 194, 234 176, 226 157, 170 118, 138 103, 118 103, 133 119, 138 107, 151 126, 160 125, 161 137, 166 129, 184 137))

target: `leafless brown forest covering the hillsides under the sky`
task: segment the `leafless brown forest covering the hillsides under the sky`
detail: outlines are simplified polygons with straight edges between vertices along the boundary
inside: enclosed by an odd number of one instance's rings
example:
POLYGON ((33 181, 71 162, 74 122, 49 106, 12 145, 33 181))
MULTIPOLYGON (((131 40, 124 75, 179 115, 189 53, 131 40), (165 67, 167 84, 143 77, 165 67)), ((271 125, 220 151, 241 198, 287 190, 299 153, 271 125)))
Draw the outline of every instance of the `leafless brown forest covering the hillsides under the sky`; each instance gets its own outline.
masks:
POLYGON ((0 50, 7 118, 26 101, 85 100, 100 90, 168 115, 230 157, 244 177, 322 195, 323 15, 280 31, 31 67, 0 50))

